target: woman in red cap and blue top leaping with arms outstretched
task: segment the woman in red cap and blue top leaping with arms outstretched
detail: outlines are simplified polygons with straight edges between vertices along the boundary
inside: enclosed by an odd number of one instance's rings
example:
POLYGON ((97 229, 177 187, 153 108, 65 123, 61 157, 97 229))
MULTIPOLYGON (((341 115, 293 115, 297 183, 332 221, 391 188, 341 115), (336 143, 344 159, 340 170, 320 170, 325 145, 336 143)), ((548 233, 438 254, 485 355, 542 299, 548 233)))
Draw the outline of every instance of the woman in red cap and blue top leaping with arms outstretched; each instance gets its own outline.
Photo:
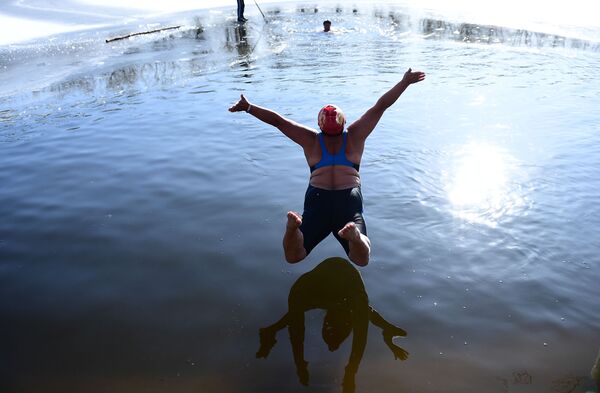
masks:
POLYGON ((285 258, 296 263, 311 252, 330 233, 336 237, 352 262, 369 263, 371 243, 362 215, 359 165, 365 141, 387 108, 392 106, 408 86, 425 79, 425 73, 410 68, 404 77, 377 100, 344 132, 346 117, 335 105, 319 111, 321 132, 286 119, 277 112, 251 104, 244 95, 229 108, 230 112, 247 112, 277 127, 299 144, 311 170, 304 199, 304 212, 288 212, 283 237, 285 258))

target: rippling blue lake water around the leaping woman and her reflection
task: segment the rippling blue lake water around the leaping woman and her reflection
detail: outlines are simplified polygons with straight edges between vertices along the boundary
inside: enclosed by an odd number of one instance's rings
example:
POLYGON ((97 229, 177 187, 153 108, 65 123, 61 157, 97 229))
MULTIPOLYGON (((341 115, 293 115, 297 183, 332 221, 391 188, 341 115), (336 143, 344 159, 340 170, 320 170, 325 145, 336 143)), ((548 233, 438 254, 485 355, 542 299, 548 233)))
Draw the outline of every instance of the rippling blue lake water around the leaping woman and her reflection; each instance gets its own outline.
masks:
MULTIPOLYGON (((248 4, 247 4, 248 7, 248 4)), ((283 258, 309 169, 240 93, 316 127, 427 73, 361 162, 371 327, 357 392, 586 392, 600 346, 600 42, 400 7, 268 5, 0 48, 3 392, 339 392, 307 314, 307 390, 287 333, 258 329, 330 256, 283 258), (318 11, 318 12, 317 12, 318 11), (334 34, 319 32, 324 19, 334 34)))

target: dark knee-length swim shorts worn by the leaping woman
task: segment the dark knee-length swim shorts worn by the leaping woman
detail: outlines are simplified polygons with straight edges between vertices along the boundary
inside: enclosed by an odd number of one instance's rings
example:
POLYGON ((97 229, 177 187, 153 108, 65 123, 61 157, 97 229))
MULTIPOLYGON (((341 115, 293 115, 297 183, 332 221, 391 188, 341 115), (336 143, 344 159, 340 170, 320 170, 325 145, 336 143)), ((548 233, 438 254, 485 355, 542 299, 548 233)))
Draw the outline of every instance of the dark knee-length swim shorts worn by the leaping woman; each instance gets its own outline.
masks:
POLYGON ((304 213, 302 213, 302 225, 300 225, 306 254, 308 255, 330 233, 333 233, 348 254, 348 240, 342 239, 337 233, 344 225, 352 221, 366 236, 367 226, 362 213, 363 203, 360 187, 345 190, 323 190, 309 185, 304 197, 304 213))

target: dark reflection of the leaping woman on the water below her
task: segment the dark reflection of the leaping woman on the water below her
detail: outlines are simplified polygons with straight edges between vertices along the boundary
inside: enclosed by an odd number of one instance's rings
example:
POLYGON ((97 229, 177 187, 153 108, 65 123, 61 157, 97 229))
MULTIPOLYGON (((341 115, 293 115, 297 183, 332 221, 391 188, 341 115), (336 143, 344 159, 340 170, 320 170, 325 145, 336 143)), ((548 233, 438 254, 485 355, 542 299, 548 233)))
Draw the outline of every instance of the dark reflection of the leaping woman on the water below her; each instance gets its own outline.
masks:
POLYGON ((303 274, 290 289, 288 312, 274 324, 260 329, 257 358, 266 358, 277 340, 279 330, 288 327, 294 363, 300 383, 308 385, 308 363, 304 359, 304 312, 325 309, 322 337, 335 351, 352 332, 352 350, 344 373, 343 391, 355 391, 355 376, 367 344, 369 322, 382 330, 383 340, 396 359, 405 360, 408 352, 393 343, 406 332, 386 321, 369 305, 362 277, 343 258, 328 258, 303 274))

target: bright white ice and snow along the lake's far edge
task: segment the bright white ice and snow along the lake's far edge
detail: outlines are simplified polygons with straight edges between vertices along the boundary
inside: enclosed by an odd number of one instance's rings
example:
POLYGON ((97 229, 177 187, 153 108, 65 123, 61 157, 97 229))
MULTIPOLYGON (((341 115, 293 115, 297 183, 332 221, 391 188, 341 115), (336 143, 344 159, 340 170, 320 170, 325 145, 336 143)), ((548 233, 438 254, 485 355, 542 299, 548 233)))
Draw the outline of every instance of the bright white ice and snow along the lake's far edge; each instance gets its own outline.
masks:
MULTIPOLYGON (((297 3, 320 6, 324 2, 302 0, 261 0, 260 5, 297 3)), ((328 5, 364 8, 394 5, 414 12, 443 15, 448 19, 524 28, 573 38, 600 41, 600 4, 586 0, 571 0, 564 4, 542 1, 507 0, 502 4, 487 4, 474 0, 386 0, 365 2, 325 1, 328 5)), ((106 28, 157 18, 186 11, 223 9, 235 13, 233 0, 8 0, 0 3, 0 47, 24 43, 56 34, 106 28)), ((246 1, 246 12, 258 15, 253 0, 246 1)))

